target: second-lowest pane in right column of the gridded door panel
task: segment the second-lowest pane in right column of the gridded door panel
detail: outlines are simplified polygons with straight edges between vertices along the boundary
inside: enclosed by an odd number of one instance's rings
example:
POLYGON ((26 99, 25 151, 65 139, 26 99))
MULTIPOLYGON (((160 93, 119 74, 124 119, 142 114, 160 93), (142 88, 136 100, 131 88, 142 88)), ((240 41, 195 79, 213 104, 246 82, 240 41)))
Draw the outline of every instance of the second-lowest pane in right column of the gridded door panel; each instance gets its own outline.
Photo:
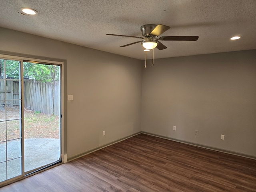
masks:
POLYGON ((21 156, 20 139, 7 142, 7 160, 12 160, 21 156))

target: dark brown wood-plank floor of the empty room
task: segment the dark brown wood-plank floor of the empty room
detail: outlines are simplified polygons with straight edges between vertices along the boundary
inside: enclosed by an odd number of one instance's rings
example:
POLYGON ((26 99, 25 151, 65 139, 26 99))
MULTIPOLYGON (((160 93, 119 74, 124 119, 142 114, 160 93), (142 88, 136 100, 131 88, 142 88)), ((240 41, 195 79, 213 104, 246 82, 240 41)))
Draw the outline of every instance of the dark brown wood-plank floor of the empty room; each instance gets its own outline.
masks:
POLYGON ((139 134, 0 192, 256 192, 256 160, 139 134))

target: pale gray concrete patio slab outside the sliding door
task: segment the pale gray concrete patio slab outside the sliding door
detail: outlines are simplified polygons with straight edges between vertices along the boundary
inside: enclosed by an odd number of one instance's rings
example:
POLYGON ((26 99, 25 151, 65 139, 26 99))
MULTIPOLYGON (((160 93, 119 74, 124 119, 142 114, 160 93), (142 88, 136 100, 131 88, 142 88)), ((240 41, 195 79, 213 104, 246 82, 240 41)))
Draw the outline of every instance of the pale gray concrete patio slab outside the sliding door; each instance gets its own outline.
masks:
MULTIPOLYGON (((8 160, 21 156, 20 142, 8 142, 8 160)), ((60 159, 60 140, 53 138, 30 138, 24 141, 25 172, 40 168, 60 159)), ((6 180, 6 144, 0 143, 0 182, 6 180)), ((21 173, 20 158, 9 161, 8 178, 21 173), (11 164, 13 163, 13 164, 11 164)))

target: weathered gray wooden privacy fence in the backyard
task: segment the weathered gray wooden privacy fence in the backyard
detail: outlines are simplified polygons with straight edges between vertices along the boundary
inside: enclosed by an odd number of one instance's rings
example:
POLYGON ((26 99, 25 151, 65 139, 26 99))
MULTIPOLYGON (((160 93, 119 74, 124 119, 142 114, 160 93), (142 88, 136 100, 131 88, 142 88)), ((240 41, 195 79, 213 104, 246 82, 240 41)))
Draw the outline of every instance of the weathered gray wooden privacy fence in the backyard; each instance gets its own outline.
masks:
MULTIPOLYGON (((19 81, 7 81, 6 105, 19 105, 19 81)), ((0 105, 4 104, 4 81, 0 82, 0 105)), ((24 107, 45 114, 60 115, 60 82, 24 80, 24 107)))

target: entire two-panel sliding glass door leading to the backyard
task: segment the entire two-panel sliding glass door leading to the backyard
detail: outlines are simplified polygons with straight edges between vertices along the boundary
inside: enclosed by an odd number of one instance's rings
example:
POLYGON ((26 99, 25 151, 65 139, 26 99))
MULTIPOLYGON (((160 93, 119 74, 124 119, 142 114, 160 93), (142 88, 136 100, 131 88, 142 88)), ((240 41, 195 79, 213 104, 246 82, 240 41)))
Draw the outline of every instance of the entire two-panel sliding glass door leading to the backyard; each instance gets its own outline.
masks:
POLYGON ((61 162, 61 66, 0 58, 0 186, 61 162))

